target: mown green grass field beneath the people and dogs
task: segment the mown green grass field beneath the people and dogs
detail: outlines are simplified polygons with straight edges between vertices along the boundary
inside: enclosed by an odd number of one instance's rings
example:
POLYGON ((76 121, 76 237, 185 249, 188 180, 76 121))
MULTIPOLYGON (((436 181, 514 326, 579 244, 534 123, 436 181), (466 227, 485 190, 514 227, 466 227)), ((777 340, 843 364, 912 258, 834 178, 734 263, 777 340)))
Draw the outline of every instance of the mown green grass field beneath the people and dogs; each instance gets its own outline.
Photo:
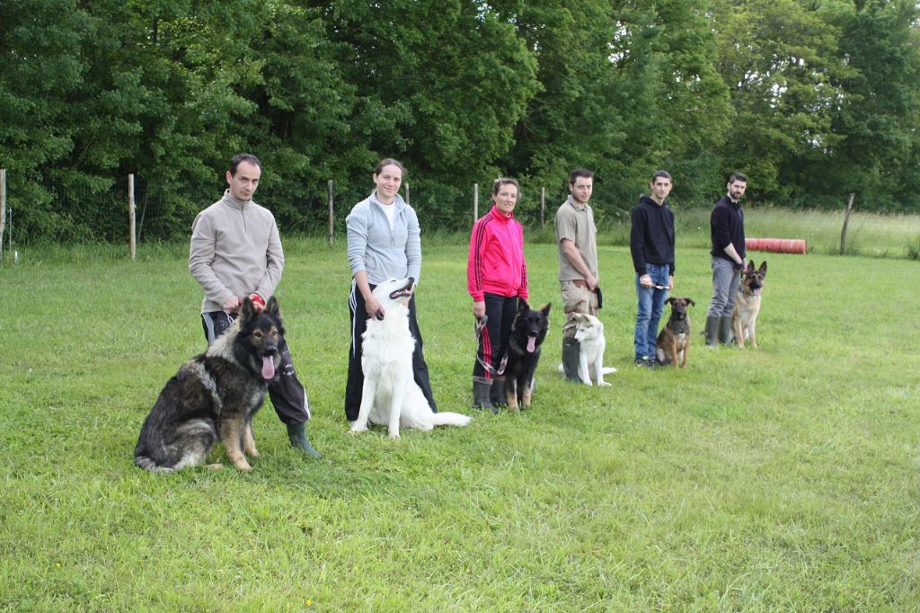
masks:
MULTIPOLYGON (((475 412, 466 246, 436 242, 418 295, 432 386, 475 412)), ((598 389, 556 372, 555 249, 531 244, 534 302, 554 305, 534 407, 392 442, 347 434, 344 245, 286 247, 324 457, 293 452, 267 406, 249 474, 132 465, 156 394, 203 349, 184 247, 0 268, 0 609, 918 610, 916 262, 752 254, 761 350, 696 337, 687 370, 650 372, 630 365, 628 251, 604 245, 620 372, 598 389)), ((707 251, 678 258, 700 330, 707 251)))

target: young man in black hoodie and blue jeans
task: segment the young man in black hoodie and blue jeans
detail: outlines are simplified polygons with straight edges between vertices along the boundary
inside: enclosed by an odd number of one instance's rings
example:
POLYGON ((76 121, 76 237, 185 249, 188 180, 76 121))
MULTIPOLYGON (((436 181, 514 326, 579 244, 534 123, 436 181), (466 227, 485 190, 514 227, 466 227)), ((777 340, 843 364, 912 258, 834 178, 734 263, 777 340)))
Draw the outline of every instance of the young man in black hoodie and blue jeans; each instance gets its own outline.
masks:
POLYGON ((651 196, 639 198, 632 211, 629 251, 638 295, 634 364, 653 368, 658 365, 658 323, 674 286, 674 214, 665 202, 673 187, 671 175, 659 170, 652 175, 650 187, 651 196))

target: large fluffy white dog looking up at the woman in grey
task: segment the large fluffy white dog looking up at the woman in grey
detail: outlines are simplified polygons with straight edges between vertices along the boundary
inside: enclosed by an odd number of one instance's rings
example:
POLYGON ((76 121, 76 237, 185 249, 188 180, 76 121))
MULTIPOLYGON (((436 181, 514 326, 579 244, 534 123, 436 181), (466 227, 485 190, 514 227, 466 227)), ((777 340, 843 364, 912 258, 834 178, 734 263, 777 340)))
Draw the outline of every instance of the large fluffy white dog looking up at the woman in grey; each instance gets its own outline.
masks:
POLYGON ((460 413, 431 411, 412 374, 415 339, 408 331, 408 299, 415 279, 390 279, 374 288, 374 297, 384 307, 382 319, 367 320, 362 335, 362 389, 358 419, 351 432, 367 430, 367 422, 386 425, 390 438, 399 438, 399 428, 431 430, 436 425, 465 426, 470 418, 460 413))

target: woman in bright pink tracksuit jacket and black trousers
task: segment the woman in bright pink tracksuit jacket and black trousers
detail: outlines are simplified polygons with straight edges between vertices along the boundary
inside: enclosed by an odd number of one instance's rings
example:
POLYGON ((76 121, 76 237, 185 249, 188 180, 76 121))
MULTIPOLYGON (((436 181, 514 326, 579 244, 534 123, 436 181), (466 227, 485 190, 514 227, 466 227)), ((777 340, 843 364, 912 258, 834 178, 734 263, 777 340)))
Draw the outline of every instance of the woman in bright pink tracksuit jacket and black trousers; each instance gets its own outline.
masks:
POLYGON ((473 297, 473 315, 480 323, 486 318, 473 364, 473 407, 493 413, 505 402, 505 377, 493 369, 499 368, 508 350, 518 298, 527 299, 523 226, 514 219, 517 199, 516 180, 495 180, 492 209, 473 225, 466 260, 466 289, 473 297))

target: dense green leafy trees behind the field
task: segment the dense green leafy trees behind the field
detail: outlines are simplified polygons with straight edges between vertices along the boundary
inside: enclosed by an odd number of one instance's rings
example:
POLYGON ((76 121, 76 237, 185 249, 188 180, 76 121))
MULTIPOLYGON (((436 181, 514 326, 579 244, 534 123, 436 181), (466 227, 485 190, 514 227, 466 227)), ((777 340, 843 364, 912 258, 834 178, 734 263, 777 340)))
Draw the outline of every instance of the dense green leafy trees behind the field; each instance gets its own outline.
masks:
POLYGON ((108 238, 128 173, 160 202, 155 235, 184 235, 239 151, 261 158, 261 189, 298 186, 282 217, 319 226, 328 179, 369 191, 384 156, 447 227, 468 227, 474 183, 520 179, 526 211, 528 186, 561 198, 577 167, 612 213, 657 168, 678 205, 714 202, 739 170, 755 203, 855 192, 864 210, 916 212, 918 13, 906 0, 4 0, 0 168, 29 240, 108 238))

